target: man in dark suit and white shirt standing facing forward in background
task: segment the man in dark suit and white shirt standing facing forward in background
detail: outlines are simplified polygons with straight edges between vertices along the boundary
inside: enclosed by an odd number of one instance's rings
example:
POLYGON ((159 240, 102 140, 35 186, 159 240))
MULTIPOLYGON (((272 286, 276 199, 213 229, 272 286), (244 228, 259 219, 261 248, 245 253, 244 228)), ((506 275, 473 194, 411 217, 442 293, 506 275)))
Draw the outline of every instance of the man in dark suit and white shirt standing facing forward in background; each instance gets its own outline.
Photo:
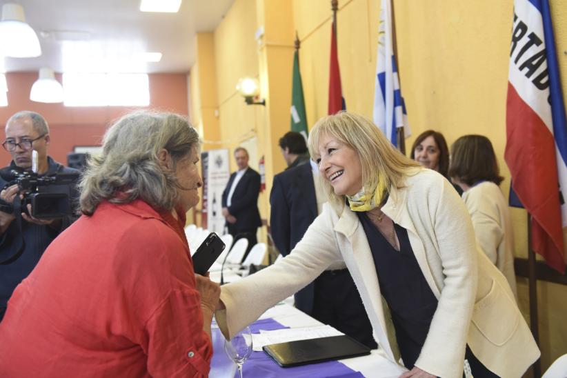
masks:
POLYGON ((248 166, 248 151, 245 148, 235 150, 235 160, 238 170, 230 175, 223 191, 222 212, 228 233, 235 237, 235 241, 243 237, 248 239, 244 260, 252 246, 256 245, 256 232, 262 225, 258 211, 260 175, 248 166))

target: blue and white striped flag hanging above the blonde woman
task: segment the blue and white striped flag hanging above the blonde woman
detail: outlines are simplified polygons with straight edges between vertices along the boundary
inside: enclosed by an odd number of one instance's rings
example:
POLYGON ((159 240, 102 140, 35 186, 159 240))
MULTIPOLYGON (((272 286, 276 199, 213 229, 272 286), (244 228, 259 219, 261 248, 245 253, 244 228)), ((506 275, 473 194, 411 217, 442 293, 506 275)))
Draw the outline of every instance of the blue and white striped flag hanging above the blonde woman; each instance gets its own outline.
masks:
POLYGON ((376 85, 374 93, 374 123, 390 142, 398 147, 397 128, 404 126, 410 136, 406 107, 401 97, 392 39, 392 10, 390 0, 381 0, 378 33, 376 85))

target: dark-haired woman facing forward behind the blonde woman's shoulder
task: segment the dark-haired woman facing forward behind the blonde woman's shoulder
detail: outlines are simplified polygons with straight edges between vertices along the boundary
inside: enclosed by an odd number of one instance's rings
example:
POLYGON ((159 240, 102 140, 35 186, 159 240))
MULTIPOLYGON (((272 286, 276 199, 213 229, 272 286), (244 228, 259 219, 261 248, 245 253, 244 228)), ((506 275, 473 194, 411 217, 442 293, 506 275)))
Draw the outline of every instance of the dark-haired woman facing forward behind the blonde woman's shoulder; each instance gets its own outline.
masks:
MULTIPOLYGON (((447 141, 441 132, 426 130, 422 132, 413 142, 410 158, 421 166, 437 170, 446 179, 449 179, 449 148, 447 141)), ((454 185, 455 190, 461 195, 463 192, 459 186, 454 185)))

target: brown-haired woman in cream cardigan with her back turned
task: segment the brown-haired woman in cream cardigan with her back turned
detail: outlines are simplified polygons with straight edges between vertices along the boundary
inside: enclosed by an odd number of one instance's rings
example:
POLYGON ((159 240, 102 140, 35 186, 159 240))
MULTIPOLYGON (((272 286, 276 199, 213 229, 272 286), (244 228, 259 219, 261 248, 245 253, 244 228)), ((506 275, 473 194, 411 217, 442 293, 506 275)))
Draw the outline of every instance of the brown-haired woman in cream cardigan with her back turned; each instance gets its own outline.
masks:
POLYGON ((465 135, 451 147, 449 175, 461 187, 481 250, 504 274, 515 295, 514 233, 492 143, 482 135, 465 135))

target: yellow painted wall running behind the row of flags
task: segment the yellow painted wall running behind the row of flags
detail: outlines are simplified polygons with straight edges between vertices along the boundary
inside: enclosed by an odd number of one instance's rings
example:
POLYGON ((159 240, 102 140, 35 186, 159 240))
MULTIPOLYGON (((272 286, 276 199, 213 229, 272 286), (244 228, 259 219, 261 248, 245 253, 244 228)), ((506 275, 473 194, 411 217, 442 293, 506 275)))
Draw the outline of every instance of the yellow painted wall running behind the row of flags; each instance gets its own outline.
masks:
MULTIPOLYGON (((274 173, 284 168, 277 137, 289 128, 293 32, 301 40, 299 60, 308 123, 326 115, 331 10, 329 0, 235 0, 214 33, 220 139, 234 148, 257 137, 257 156, 267 161, 267 192, 274 173), (289 20, 291 25, 285 23, 289 20), (263 25, 266 38, 258 45, 255 30, 263 25), (289 35, 289 40, 286 36, 289 35), (270 38, 274 36, 274 40, 270 38), (279 50, 277 50, 279 49, 279 50), (287 57, 289 56, 289 60, 287 57), (281 65, 277 65, 277 61, 281 65), (268 107, 246 106, 235 91, 242 76, 258 77, 268 107), (286 85, 288 87, 286 87, 286 85), (270 97, 271 101, 270 101, 270 97), (279 134, 281 133, 281 134, 279 134)), ((567 94, 567 7, 550 0, 564 93, 567 94)), ((513 1, 394 0, 401 88, 406 99, 412 137, 433 128, 448 143, 470 133, 493 141, 502 190, 509 189, 504 162, 506 86, 513 1)), ((344 97, 348 110, 372 116, 376 70, 379 0, 339 1, 337 41, 344 97)), ((251 161, 257 168, 257 161, 251 161)), ((234 167, 234 166, 233 166, 234 167)), ((262 217, 268 199, 261 195, 262 217)), ((513 209, 516 255, 526 256, 526 214, 513 209)), ((542 366, 567 352, 567 288, 539 282, 542 366)), ((527 288, 519 279, 520 306, 527 313, 527 288)), ((526 315, 527 316, 527 315, 526 315)))

